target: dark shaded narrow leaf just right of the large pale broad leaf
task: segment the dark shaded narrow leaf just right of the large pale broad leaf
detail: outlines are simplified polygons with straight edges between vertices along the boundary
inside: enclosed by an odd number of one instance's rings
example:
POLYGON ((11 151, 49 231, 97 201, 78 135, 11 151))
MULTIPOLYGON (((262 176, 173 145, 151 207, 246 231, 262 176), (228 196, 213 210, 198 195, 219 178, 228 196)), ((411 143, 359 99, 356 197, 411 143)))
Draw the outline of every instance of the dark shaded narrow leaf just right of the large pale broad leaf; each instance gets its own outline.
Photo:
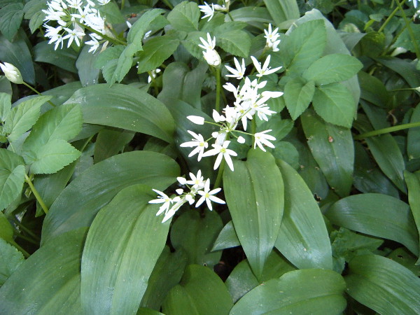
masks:
POLYGON ((186 265, 186 253, 183 251, 171 253, 169 247, 165 246, 148 279, 147 289, 140 306, 160 309, 169 290, 181 281, 186 265))

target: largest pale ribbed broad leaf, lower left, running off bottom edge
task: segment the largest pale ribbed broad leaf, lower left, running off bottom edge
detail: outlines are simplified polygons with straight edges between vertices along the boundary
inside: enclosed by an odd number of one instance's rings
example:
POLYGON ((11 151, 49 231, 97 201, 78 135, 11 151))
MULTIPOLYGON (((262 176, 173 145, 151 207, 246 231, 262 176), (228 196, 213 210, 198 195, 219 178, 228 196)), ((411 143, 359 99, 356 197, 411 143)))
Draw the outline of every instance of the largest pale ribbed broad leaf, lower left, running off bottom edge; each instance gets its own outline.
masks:
POLYGON ((156 216, 150 187, 120 191, 87 233, 80 297, 86 314, 135 314, 162 253, 170 221, 156 216))

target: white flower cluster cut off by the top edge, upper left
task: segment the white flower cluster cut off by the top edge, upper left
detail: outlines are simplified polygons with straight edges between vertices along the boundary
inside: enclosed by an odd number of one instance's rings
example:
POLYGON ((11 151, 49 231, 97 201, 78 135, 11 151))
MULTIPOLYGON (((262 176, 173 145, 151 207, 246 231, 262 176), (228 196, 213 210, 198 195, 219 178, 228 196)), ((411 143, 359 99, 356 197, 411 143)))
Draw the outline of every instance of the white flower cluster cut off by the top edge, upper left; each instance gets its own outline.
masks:
MULTIPOLYGON (((97 0, 97 3, 104 6, 111 0, 97 0)), ((89 34, 91 45, 89 52, 95 52, 99 48, 102 35, 106 34, 105 19, 95 8, 96 3, 91 0, 51 0, 47 3, 48 9, 45 13, 44 27, 47 29, 45 37, 50 38, 48 43, 55 43, 54 49, 58 46, 63 47, 64 41, 67 41, 67 47, 70 47, 73 41, 80 46, 79 40, 85 36, 85 27, 94 32, 89 34), (55 26, 48 25, 48 22, 56 23, 55 26)), ((106 45, 106 43, 105 43, 106 45)))

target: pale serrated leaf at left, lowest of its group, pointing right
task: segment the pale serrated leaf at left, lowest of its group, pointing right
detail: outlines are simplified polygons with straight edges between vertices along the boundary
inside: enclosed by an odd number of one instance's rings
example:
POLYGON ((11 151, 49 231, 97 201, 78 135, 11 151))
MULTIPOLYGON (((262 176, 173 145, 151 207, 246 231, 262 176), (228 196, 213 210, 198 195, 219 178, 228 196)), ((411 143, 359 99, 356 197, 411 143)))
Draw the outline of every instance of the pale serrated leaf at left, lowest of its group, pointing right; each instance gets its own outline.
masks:
POLYGON ((80 156, 80 151, 62 139, 53 139, 38 148, 35 155, 27 158, 33 174, 52 174, 69 165, 80 156))

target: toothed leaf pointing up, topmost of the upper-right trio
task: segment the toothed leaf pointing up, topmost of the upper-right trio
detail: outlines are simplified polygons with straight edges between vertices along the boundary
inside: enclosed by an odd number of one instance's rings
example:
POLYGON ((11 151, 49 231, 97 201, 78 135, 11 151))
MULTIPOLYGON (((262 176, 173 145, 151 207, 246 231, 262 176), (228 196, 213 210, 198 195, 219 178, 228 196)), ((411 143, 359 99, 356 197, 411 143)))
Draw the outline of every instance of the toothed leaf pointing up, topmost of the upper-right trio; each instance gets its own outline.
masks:
POLYGON ((326 43, 327 34, 323 20, 299 25, 279 45, 286 73, 302 73, 322 56, 326 43))

